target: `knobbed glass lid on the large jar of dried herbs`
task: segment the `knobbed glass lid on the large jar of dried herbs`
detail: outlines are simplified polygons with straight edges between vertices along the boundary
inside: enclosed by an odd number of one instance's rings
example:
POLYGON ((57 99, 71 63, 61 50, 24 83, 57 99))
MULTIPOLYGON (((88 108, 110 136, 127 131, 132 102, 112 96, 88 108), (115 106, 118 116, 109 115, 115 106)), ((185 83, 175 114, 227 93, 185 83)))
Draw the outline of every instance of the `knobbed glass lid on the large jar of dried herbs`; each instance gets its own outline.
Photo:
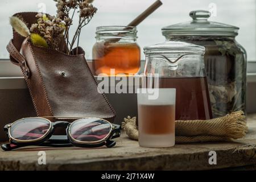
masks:
POLYGON ((205 10, 191 11, 189 16, 191 22, 172 24, 163 27, 162 34, 168 38, 170 36, 237 36, 238 27, 229 24, 210 22, 210 12, 205 10))

